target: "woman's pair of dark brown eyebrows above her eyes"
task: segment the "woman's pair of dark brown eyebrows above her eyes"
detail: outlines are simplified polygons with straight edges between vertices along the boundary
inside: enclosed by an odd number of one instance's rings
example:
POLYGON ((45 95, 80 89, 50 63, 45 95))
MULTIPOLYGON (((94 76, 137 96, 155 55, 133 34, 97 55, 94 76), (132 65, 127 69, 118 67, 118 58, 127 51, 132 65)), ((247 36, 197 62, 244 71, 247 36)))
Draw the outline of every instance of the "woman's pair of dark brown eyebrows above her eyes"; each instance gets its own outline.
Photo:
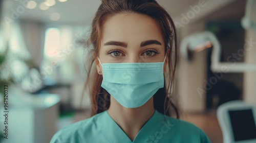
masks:
MULTIPOLYGON (((146 40, 146 41, 142 41, 140 43, 140 47, 143 47, 146 45, 151 45, 151 44, 162 45, 162 43, 159 42, 158 40, 146 40)), ((109 42, 104 43, 104 45, 117 45, 117 46, 127 47, 127 43, 119 42, 119 41, 109 41, 109 42)))

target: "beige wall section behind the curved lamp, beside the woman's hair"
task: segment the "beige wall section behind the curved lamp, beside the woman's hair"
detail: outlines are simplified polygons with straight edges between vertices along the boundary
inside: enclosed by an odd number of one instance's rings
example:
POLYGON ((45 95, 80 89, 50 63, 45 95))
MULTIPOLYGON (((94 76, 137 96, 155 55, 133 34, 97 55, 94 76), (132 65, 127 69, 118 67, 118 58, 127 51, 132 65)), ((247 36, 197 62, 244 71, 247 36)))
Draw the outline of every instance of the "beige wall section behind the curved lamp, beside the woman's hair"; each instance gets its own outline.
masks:
MULTIPOLYGON (((186 26, 180 29, 180 42, 185 36, 204 30, 203 20, 186 26)), ((200 112, 205 109, 205 93, 199 94, 197 89, 204 89, 203 81, 206 79, 206 61, 206 51, 195 53, 190 62, 183 57, 180 58, 177 69, 178 93, 181 108, 185 112, 200 112)))

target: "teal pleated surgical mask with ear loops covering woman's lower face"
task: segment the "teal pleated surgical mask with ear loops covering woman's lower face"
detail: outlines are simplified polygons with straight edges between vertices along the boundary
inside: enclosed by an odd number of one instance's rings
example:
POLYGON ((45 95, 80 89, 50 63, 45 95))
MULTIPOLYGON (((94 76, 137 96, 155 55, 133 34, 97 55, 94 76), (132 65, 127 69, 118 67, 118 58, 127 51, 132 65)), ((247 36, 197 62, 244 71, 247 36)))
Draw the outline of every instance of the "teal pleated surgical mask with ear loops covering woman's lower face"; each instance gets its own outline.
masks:
MULTIPOLYGON (((165 58, 166 54, 164 61, 165 58)), ((99 60, 103 76, 101 87, 123 107, 140 107, 152 98, 159 88, 164 87, 164 61, 101 64, 99 60)))

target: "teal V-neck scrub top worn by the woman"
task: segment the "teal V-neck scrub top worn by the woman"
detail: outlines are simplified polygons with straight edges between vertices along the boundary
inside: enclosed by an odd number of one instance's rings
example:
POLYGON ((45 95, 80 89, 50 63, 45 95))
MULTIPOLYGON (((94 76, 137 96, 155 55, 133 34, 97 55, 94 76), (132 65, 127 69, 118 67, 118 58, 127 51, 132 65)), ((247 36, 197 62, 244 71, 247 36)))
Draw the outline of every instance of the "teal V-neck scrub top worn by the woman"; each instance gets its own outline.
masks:
POLYGON ((153 116, 144 124, 133 141, 123 132, 105 110, 86 120, 60 129, 50 143, 66 142, 210 142, 207 135, 194 124, 164 116, 155 110, 153 116))

